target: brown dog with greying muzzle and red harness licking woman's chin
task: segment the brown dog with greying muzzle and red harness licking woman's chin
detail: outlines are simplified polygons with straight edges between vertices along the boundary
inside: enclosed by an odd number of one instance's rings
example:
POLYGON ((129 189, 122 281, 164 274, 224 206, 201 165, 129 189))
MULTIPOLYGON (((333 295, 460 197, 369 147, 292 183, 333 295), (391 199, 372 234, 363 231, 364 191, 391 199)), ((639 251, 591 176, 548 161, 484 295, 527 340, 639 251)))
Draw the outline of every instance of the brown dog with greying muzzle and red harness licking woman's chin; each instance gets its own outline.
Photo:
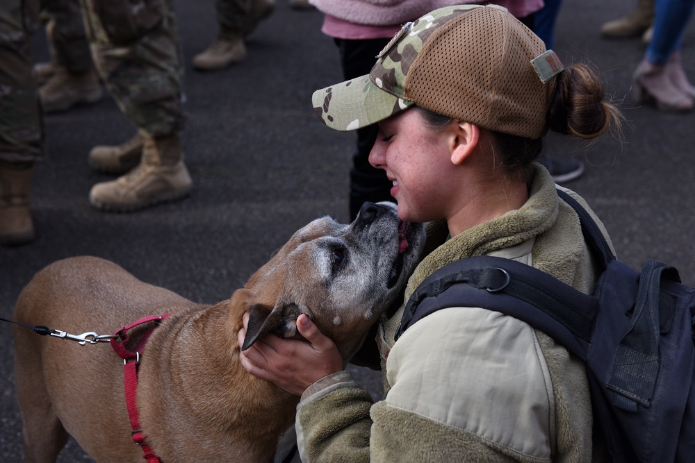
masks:
MULTIPOLYGON (((99 258, 70 258, 37 273, 15 321, 70 333, 111 334, 147 315, 172 314, 140 360, 137 404, 147 444, 165 463, 265 462, 293 423, 298 398, 248 374, 237 333, 247 311, 250 346, 291 337, 300 313, 345 360, 393 302, 418 260, 421 224, 395 206, 366 203, 350 225, 304 226, 228 301, 202 305, 142 283, 99 258)), ((54 462, 68 435, 97 462, 139 462, 126 412, 123 362, 108 344, 80 346, 15 327, 15 379, 28 462, 54 462)))

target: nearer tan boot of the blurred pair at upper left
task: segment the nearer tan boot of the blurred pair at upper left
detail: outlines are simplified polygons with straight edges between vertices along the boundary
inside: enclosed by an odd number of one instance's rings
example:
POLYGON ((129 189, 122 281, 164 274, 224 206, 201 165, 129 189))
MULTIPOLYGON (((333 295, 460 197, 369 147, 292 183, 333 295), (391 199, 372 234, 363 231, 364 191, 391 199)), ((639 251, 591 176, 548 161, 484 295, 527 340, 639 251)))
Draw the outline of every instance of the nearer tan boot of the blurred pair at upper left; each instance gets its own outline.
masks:
POLYGON ((44 112, 66 111, 78 104, 96 103, 102 94, 94 69, 75 74, 62 66, 55 67, 53 76, 39 89, 44 112))

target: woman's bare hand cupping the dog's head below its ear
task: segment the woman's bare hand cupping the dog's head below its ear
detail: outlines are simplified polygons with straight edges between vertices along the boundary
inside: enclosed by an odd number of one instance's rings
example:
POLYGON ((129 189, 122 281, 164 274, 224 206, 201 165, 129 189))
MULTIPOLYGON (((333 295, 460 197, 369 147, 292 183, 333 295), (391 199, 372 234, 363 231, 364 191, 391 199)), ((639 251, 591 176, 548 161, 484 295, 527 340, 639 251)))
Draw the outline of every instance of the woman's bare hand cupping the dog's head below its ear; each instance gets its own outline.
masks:
MULTIPOLYGON (((244 344, 249 323, 239 331, 239 348, 244 344)), ((309 317, 297 317, 297 331, 304 339, 283 339, 265 335, 240 355, 243 367, 254 376, 268 380, 291 394, 301 396, 314 382, 343 370, 343 357, 334 342, 322 335, 309 317)))

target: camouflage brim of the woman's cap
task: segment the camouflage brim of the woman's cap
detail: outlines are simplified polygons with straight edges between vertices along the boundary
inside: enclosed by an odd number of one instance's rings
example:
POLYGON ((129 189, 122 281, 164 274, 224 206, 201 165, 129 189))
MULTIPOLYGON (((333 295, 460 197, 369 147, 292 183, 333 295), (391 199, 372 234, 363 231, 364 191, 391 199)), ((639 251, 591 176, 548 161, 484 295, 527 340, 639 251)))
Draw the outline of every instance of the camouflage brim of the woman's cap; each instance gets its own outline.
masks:
POLYGON ((316 115, 336 131, 375 124, 414 104, 380 89, 369 75, 316 90, 311 102, 316 115))

